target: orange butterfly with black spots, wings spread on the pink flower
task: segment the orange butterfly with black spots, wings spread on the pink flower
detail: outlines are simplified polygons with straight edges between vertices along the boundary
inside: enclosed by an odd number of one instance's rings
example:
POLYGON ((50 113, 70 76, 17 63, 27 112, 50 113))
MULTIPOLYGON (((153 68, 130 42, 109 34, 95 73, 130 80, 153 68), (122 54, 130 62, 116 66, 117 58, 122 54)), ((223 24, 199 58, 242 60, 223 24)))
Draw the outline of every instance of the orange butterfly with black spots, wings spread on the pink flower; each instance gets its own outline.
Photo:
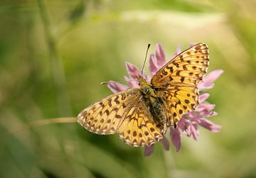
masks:
POLYGON ((208 46, 198 43, 166 63, 150 82, 127 89, 82 110, 78 123, 92 133, 119 138, 134 147, 150 146, 176 128, 183 114, 198 105, 198 83, 209 66, 208 46))

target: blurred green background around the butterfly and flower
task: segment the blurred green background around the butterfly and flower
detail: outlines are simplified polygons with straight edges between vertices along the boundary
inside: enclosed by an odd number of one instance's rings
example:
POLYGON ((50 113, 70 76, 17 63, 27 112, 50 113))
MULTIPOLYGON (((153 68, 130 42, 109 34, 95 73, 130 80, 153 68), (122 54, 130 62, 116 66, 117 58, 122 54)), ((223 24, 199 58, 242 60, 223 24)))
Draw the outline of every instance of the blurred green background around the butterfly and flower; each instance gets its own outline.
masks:
POLYGON ((256 1, 14 0, 0 2, 0 177, 256 177, 256 1), (198 42, 210 71, 225 73, 208 101, 223 126, 182 137, 180 152, 154 154, 78 123, 74 117, 111 94, 124 62, 142 67, 146 45, 171 57, 198 42), (50 120, 49 120, 50 121, 50 120), (63 122, 65 118, 63 118, 63 122), (8 134, 6 134, 8 133, 8 134))

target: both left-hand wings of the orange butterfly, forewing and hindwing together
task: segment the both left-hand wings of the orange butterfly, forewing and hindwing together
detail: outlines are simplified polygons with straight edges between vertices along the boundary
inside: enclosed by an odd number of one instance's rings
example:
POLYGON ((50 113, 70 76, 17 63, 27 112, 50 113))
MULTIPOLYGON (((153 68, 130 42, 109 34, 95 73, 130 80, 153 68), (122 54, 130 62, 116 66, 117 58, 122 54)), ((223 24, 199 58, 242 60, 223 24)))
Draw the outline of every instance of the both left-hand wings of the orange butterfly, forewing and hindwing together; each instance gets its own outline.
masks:
POLYGON ((154 122, 139 89, 112 94, 78 115, 78 123, 92 133, 117 133, 134 147, 151 145, 163 138, 163 131, 154 122))

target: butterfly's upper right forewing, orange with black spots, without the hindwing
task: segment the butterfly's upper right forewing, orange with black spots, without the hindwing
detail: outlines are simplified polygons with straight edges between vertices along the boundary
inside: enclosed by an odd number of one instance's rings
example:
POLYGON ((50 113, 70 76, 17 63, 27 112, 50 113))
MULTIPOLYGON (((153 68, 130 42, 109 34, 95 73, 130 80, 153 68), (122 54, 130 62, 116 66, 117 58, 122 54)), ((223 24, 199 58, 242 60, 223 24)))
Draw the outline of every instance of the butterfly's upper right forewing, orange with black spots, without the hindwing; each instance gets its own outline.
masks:
POLYGON ((164 87, 166 84, 197 86, 203 75, 206 74, 208 65, 208 46, 198 43, 167 62, 152 77, 151 84, 158 88, 164 87))

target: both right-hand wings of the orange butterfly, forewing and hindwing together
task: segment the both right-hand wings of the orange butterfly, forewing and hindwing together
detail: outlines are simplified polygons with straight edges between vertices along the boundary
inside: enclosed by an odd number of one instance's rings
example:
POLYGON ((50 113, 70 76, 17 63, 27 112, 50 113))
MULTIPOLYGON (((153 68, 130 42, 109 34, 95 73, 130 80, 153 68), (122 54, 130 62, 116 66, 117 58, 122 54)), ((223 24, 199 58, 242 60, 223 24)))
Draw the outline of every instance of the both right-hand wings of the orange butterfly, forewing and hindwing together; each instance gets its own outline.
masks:
POLYGON ((167 125, 175 126, 184 113, 198 105, 198 83, 209 65, 208 47, 203 43, 169 61, 151 79, 157 94, 166 99, 167 125))

